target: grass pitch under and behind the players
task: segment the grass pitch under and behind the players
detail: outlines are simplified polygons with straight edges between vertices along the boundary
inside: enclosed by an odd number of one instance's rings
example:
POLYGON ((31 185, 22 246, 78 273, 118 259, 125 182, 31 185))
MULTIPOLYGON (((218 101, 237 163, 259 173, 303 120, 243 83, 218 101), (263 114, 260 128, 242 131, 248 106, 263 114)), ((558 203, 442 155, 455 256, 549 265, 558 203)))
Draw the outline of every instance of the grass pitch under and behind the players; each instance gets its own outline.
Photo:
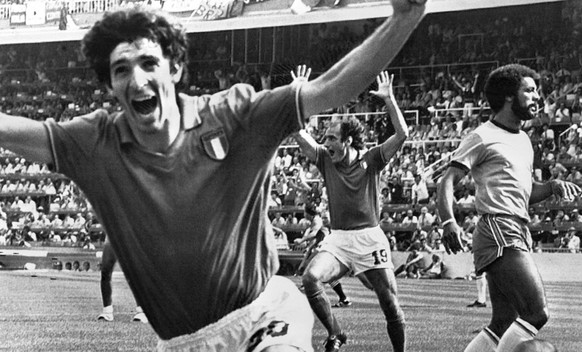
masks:
MULTIPOLYGON (((149 325, 131 322, 135 302, 121 273, 113 278, 115 321, 99 322, 99 273, 0 271, 0 351, 154 351, 149 325)), ((298 282, 296 278, 293 278, 298 282)), ((373 292, 358 280, 342 280, 354 304, 334 308, 348 334, 342 352, 391 351, 385 321, 373 292)), ((491 314, 467 308, 473 281, 398 280, 407 320, 408 351, 463 351, 491 314)), ((551 318, 538 335, 561 352, 582 351, 582 283, 546 282, 551 318)), ((336 299, 333 291, 330 298, 336 299)), ((327 336, 317 321, 316 351, 327 336)))

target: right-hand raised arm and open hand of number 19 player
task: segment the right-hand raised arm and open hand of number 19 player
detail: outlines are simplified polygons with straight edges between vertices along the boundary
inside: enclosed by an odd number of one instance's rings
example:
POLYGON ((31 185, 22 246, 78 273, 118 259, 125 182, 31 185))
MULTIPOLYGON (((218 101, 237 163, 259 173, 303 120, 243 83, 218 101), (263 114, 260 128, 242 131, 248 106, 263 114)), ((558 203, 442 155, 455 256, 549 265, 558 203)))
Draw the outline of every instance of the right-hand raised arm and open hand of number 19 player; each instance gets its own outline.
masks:
POLYGON ((404 121, 404 115, 402 115, 402 111, 398 108, 396 98, 394 97, 392 89, 394 75, 389 75, 388 72, 384 71, 378 75, 376 82, 378 83, 378 90, 370 91, 370 93, 384 100, 388 115, 390 115, 390 120, 392 121, 392 126, 394 126, 396 131, 396 133, 381 145, 382 156, 384 160, 388 161, 400 149, 406 138, 408 138, 408 127, 406 126, 406 121, 404 121))

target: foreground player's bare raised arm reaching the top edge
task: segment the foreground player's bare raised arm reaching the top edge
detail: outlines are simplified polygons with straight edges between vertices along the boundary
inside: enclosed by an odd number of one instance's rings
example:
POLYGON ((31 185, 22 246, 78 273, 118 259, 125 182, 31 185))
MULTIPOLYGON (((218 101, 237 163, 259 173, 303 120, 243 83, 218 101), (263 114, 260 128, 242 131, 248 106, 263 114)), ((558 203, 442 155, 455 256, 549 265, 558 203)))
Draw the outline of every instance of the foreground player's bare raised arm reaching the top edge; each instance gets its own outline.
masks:
POLYGON ((335 108, 364 91, 398 54, 425 13, 426 0, 392 0, 393 15, 361 45, 300 91, 302 113, 335 108))

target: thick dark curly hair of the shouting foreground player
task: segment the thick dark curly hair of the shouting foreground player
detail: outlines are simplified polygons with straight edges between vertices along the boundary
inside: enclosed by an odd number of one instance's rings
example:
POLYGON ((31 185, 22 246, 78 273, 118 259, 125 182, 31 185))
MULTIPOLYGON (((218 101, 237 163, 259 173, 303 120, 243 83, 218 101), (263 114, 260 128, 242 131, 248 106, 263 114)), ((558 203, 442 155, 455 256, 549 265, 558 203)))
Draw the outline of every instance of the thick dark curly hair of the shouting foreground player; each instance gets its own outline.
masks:
MULTIPOLYGON (((81 48, 99 81, 111 87, 111 52, 120 43, 141 38, 158 43, 164 56, 170 59, 171 67, 186 64, 188 39, 182 26, 164 12, 139 5, 106 13, 85 34, 81 48)), ((186 70, 182 82, 185 80, 186 70)))

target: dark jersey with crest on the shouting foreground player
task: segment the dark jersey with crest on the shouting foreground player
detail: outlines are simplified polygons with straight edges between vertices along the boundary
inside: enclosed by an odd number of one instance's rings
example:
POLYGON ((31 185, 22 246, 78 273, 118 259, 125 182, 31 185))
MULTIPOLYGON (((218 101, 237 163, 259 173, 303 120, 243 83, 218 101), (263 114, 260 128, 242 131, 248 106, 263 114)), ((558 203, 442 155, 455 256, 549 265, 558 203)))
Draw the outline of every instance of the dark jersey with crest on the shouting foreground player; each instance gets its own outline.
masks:
POLYGON ((277 147, 302 127, 297 87, 180 94, 165 153, 141 148, 123 113, 45 123, 53 167, 93 205, 162 339, 249 304, 277 271, 267 200, 277 147))

